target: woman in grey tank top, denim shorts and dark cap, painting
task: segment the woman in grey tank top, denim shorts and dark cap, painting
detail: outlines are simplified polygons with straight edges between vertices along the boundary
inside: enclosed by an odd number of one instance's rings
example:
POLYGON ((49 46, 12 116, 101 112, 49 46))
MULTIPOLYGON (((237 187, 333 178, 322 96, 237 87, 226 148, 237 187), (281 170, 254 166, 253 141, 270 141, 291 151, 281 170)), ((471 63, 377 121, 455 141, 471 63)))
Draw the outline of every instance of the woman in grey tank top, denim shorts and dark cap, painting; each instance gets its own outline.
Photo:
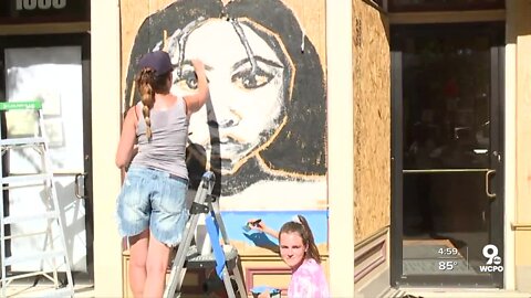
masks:
POLYGON ((143 55, 135 81, 142 100, 128 109, 122 128, 116 166, 127 173, 117 199, 117 221, 129 243, 134 297, 163 297, 169 254, 188 219, 188 124, 209 97, 202 62, 191 64, 195 92, 178 97, 169 92, 174 67, 168 53, 143 55))

